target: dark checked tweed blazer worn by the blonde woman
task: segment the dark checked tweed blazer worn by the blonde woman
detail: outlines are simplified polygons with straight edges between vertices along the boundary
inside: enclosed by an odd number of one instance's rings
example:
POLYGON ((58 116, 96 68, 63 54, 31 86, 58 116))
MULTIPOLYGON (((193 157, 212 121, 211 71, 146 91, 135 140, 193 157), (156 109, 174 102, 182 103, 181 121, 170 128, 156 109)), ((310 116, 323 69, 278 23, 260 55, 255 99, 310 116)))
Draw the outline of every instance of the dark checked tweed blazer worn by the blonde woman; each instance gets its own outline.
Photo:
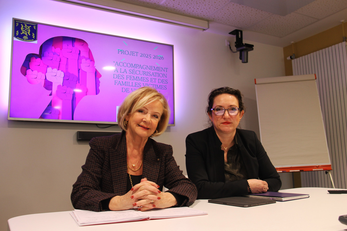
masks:
MULTIPOLYGON (((82 173, 73 185, 71 202, 76 209, 102 211, 101 202, 127 193, 127 148, 123 131, 120 134, 95 137, 82 166, 82 173)), ((142 176, 185 197, 179 206, 192 205, 197 190, 186 178, 172 156, 172 146, 148 138, 143 150, 142 176)))

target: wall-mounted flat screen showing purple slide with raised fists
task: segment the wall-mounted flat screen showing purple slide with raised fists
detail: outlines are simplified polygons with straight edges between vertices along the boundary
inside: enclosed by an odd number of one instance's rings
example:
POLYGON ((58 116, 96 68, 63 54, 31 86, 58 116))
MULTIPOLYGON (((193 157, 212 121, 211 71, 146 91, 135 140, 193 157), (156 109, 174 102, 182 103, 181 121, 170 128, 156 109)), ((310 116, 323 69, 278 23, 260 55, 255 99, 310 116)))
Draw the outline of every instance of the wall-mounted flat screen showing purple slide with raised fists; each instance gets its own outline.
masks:
POLYGON ((117 124, 132 91, 149 86, 174 120, 174 47, 13 19, 8 119, 117 124))

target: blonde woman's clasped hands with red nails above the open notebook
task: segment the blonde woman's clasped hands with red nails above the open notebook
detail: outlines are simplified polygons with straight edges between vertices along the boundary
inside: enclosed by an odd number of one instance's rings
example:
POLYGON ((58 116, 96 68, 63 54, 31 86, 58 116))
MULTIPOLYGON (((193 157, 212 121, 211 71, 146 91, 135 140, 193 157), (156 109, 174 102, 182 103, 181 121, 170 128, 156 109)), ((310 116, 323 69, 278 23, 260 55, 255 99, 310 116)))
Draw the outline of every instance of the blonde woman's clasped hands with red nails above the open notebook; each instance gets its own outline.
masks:
POLYGON ((176 198, 171 193, 160 192, 159 185, 143 178, 141 182, 122 196, 111 198, 110 210, 128 210, 140 207, 138 211, 152 208, 167 208, 177 204, 176 198))

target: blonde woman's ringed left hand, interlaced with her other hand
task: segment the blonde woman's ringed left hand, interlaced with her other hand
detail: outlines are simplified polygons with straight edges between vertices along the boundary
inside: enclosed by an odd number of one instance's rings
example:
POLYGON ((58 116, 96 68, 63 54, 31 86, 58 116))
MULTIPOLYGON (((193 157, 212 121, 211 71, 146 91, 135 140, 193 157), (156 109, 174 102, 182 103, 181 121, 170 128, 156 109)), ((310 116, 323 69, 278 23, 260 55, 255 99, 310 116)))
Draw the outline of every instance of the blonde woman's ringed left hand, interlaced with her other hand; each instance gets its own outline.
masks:
MULTIPOLYGON (((142 181, 146 181, 147 179, 144 178, 141 180, 142 181)), ((166 193, 166 192, 161 192, 158 194, 155 194, 155 196, 157 196, 158 200, 151 200, 151 199, 147 199, 147 195, 143 196, 143 197, 138 197, 138 200, 144 200, 146 199, 146 201, 148 202, 147 204, 143 204, 141 205, 142 207, 139 208, 139 211, 146 211, 146 210, 150 210, 152 208, 168 208, 171 206, 174 206, 177 204, 176 198, 174 197, 174 195, 172 195, 171 193, 166 193), (153 203, 151 203, 153 201, 153 203)))

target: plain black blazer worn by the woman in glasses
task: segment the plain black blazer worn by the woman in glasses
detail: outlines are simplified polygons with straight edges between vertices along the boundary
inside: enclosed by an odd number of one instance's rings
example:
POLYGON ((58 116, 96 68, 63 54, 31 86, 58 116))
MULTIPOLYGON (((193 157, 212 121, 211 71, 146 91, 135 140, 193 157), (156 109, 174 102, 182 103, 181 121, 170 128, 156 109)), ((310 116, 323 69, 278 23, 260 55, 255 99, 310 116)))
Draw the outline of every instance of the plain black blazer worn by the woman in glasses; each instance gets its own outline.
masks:
MULTIPOLYGON (((247 171, 247 179, 261 179, 269 191, 281 187, 280 176, 273 167, 255 132, 236 129, 238 148, 247 171)), ((212 199, 248 194, 247 181, 226 181, 224 152, 214 127, 189 134, 186 138, 186 168, 197 187, 197 199, 212 199)))

